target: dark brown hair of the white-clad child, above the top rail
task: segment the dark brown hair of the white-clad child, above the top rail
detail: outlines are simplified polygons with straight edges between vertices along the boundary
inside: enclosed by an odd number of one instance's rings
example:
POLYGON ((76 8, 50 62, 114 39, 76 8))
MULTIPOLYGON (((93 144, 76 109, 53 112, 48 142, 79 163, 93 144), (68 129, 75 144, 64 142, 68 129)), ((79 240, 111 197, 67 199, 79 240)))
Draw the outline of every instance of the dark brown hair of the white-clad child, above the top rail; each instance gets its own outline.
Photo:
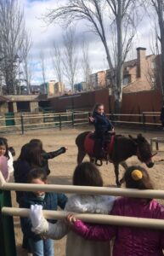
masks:
POLYGON ((90 162, 83 162, 73 174, 73 184, 76 186, 95 186, 102 187, 103 179, 99 169, 90 162))

